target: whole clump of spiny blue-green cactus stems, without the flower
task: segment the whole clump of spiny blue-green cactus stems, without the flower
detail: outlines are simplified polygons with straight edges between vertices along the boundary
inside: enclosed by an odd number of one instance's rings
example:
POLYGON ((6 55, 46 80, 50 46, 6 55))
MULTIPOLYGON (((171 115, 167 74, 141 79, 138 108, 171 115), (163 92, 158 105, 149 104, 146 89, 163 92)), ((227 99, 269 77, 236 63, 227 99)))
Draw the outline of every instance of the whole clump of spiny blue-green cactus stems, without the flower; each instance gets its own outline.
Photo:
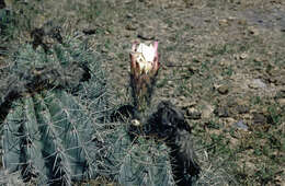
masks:
MULTIPOLYGON (((173 148, 156 138, 166 127, 160 107, 145 119, 141 133, 133 132, 132 116, 112 117, 100 55, 89 50, 87 42, 64 37, 48 48, 38 46, 19 47, 0 78, 5 176, 18 173, 35 185, 99 177, 125 186, 175 185, 173 165, 181 161, 173 164, 172 151, 184 144, 173 148)), ((175 132, 167 135, 176 135, 176 120, 170 123, 175 132)), ((182 161, 183 171, 190 171, 190 163, 192 159, 182 161)), ((0 177, 0 183, 5 179, 0 177)))

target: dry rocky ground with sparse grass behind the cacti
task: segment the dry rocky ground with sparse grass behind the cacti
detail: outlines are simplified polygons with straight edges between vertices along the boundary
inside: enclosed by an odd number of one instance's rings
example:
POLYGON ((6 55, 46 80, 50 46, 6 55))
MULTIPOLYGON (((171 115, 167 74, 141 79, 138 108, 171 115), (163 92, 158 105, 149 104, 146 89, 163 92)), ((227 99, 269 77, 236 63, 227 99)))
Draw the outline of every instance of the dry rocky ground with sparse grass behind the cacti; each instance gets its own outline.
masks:
POLYGON ((285 184, 283 0, 9 0, 7 7, 22 11, 20 42, 48 21, 90 37, 117 103, 129 102, 132 43, 159 40, 153 105, 170 100, 185 112, 203 168, 198 184, 285 184))

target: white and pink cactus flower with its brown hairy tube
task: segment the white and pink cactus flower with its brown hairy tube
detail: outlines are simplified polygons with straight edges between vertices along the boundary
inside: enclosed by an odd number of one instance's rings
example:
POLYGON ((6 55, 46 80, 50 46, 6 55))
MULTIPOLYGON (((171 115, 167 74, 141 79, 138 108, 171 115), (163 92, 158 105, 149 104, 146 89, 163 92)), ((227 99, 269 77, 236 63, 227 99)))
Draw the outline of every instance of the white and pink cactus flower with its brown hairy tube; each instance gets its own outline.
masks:
POLYGON ((158 42, 153 42, 150 45, 136 42, 132 46, 129 56, 134 105, 139 112, 142 112, 150 104, 156 77, 160 67, 158 42))

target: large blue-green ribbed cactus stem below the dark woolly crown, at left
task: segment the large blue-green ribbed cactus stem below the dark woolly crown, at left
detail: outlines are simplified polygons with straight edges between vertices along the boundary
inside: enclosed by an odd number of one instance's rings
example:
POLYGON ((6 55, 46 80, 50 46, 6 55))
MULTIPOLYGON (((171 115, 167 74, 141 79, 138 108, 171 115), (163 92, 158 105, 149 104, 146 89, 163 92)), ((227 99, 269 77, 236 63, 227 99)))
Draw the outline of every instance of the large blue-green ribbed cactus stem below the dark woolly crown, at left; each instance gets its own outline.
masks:
POLYGON ((76 98, 60 90, 26 96, 4 121, 3 163, 38 184, 96 176, 96 144, 91 118, 76 98))

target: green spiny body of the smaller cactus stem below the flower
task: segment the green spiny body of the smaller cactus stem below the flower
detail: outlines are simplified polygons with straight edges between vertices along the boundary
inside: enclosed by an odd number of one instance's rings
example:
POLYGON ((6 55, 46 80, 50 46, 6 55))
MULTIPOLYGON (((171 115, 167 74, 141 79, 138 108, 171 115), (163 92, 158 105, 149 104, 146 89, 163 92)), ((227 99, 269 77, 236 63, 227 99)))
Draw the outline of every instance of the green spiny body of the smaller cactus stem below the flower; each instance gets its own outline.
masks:
POLYGON ((169 149, 153 138, 129 135, 128 125, 119 125, 107 137, 112 148, 106 160, 112 162, 106 165, 112 167, 113 179, 119 185, 175 185, 171 173, 169 149))

